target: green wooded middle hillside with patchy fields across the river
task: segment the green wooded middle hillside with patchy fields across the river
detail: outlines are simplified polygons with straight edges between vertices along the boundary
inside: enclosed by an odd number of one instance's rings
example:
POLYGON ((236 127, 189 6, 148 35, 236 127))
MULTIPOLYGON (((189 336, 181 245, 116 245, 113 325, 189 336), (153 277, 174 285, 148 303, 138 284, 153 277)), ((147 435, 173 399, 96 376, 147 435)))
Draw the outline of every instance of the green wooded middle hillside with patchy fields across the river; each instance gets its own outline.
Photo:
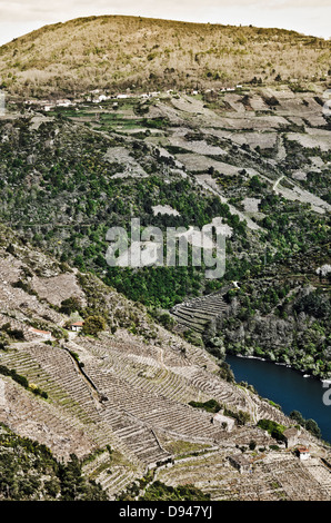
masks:
POLYGON ((322 89, 134 96, 49 111, 36 102, 23 115, 12 105, 0 120, 0 218, 157 317, 177 306, 173 317, 194 343, 215 337, 222 351, 329 377, 331 139, 322 89), (129 230, 131 217, 162 230, 221 220, 224 276, 208 279, 190 263, 109 267, 107 230, 129 230), (213 305, 208 295, 227 294, 232 282, 237 297, 213 305), (193 308, 179 306, 202 295, 193 308))

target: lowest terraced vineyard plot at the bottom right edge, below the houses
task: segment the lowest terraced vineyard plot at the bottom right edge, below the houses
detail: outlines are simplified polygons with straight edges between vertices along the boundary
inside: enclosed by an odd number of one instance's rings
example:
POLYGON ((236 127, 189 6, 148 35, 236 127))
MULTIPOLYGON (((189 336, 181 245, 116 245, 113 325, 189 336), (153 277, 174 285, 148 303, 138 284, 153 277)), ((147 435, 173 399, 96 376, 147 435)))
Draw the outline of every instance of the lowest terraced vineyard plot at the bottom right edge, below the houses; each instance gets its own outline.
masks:
POLYGON ((235 455, 235 451, 179 460, 172 468, 160 471, 158 478, 172 486, 194 483, 214 501, 329 500, 328 483, 321 477, 327 474, 329 478, 330 473, 320 461, 315 465, 320 468, 319 476, 315 472, 312 477, 311 467, 298 463, 291 455, 274 452, 252 458, 252 472, 240 474, 229 463, 229 455, 235 455))

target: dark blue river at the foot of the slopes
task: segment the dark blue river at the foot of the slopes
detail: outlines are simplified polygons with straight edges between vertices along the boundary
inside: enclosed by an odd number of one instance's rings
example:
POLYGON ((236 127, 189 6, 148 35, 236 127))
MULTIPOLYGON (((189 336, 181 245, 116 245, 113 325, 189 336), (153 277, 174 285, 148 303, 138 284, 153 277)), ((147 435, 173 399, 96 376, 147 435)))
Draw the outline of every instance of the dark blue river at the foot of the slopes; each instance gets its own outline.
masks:
MULTIPOLYGON (((323 403, 328 388, 319 379, 303 377, 293 368, 257 358, 228 355, 225 362, 231 366, 237 382, 253 385, 260 396, 279 404, 287 415, 299 411, 305 420, 314 420, 322 438, 331 443, 331 405, 323 403)), ((331 393, 328 397, 331 398, 331 393)))

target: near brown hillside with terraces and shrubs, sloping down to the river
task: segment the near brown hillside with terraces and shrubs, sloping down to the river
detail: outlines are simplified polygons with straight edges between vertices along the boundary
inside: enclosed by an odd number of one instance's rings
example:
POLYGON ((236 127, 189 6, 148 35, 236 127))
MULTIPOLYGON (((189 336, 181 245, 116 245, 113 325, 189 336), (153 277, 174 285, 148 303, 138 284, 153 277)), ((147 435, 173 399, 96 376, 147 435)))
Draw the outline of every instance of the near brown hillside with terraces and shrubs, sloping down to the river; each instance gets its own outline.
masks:
POLYGON ((221 362, 94 276, 31 250, 4 228, 0 263, 0 458, 11 471, 39 463, 20 484, 0 482, 1 499, 114 499, 126 487, 120 497, 132 499, 157 478, 193 483, 215 500, 255 499, 258 491, 265 500, 330 499, 321 461, 330 460, 329 447, 302 428, 299 441, 314 461, 312 468, 299 463, 279 432, 257 426, 272 420, 283 430, 294 422, 230 375, 221 378, 221 362), (97 335, 66 328, 70 318, 88 323, 96 314, 106 319, 97 335), (211 423, 220 407, 225 424, 211 423), (229 464, 238 452, 252 464, 249 476, 229 464), (62 458, 68 470, 57 464, 62 458), (280 475, 267 489, 272 470, 280 475), (217 489, 214 474, 227 478, 217 489), (237 485, 230 492, 229 482, 237 485))

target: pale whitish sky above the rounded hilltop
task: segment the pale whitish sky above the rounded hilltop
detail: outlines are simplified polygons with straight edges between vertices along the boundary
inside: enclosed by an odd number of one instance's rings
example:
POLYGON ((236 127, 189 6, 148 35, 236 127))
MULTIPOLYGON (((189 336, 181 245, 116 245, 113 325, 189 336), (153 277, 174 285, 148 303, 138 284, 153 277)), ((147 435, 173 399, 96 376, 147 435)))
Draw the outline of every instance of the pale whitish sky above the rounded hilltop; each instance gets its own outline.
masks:
POLYGON ((0 0, 0 45, 49 23, 99 14, 277 27, 331 38, 330 0, 0 0))

